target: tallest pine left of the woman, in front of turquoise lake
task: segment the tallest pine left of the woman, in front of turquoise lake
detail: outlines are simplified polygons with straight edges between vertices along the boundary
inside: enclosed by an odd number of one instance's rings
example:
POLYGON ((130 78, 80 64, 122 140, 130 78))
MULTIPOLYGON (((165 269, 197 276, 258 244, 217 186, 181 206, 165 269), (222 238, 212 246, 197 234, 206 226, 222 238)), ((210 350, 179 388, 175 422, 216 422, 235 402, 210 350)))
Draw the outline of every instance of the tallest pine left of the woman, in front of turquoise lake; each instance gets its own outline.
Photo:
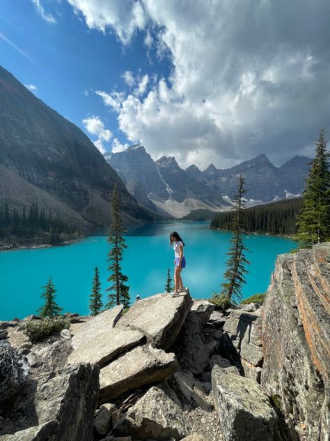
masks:
POLYGON ((107 288, 111 294, 108 294, 107 308, 112 308, 114 305, 123 304, 124 308, 129 307, 129 286, 125 285, 128 281, 127 276, 124 276, 120 267, 120 262, 123 260, 123 250, 127 248, 123 234, 126 232, 123 227, 123 221, 120 218, 120 206, 118 199, 118 191, 116 184, 113 186, 111 195, 111 225, 109 226, 109 242, 111 249, 108 253, 109 271, 111 276, 108 281, 112 283, 107 288))

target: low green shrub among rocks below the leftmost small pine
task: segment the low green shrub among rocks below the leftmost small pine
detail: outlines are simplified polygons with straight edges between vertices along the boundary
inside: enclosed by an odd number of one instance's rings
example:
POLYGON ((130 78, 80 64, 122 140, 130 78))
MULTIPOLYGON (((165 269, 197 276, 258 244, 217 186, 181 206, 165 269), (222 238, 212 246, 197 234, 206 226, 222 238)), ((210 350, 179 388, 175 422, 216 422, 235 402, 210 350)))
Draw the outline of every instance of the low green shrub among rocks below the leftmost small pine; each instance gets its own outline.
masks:
POLYGON ((68 329, 70 322, 63 319, 44 318, 42 320, 31 320, 24 325, 24 334, 29 337, 31 343, 37 343, 44 338, 68 329))

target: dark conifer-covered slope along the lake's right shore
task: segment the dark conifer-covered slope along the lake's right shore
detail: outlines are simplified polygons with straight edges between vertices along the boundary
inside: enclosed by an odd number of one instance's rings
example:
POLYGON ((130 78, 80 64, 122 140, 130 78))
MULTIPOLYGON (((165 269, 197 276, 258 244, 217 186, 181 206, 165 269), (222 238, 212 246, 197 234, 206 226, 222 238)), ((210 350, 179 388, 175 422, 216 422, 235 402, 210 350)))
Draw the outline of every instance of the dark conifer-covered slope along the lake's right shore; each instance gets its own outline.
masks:
MULTIPOLYGON (((302 198, 272 202, 244 210, 245 232, 268 234, 295 234, 296 218, 302 207, 302 198)), ((230 230, 233 211, 221 213, 211 222, 211 228, 230 230)))

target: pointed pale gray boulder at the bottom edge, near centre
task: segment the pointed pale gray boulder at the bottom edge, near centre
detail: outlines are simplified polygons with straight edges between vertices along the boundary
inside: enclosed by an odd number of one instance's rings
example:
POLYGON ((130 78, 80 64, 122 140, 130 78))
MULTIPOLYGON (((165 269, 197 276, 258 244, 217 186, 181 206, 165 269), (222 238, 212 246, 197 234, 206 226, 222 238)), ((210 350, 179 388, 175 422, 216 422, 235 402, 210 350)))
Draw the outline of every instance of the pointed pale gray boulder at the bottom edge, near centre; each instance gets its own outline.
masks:
POLYGON ((152 387, 129 409, 117 430, 140 440, 167 441, 184 438, 191 428, 181 408, 162 389, 152 387))

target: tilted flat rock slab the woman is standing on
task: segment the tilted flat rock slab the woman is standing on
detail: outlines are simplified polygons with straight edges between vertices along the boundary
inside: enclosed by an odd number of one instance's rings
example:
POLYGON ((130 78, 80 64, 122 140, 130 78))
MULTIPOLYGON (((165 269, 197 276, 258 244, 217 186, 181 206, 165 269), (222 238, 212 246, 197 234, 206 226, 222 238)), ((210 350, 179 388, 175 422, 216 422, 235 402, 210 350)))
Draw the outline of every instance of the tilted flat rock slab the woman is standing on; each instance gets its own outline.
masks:
POLYGON ((174 298, 170 294, 156 294, 136 301, 116 327, 141 331, 152 346, 166 350, 178 336, 192 303, 189 292, 174 298))

